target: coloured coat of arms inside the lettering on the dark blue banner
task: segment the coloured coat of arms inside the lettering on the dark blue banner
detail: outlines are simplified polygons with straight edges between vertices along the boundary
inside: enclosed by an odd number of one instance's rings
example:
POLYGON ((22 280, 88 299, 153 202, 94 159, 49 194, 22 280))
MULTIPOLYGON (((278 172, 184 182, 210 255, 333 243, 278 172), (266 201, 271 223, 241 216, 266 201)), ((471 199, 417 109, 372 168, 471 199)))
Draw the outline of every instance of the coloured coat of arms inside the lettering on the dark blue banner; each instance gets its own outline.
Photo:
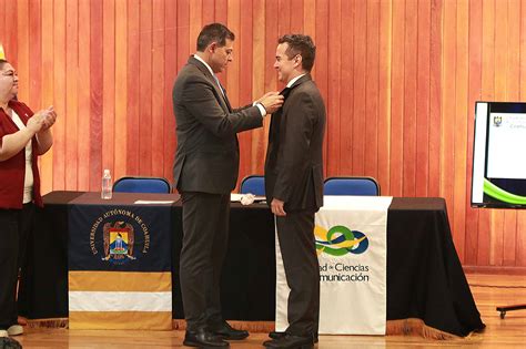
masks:
POLYGON ((118 261, 133 257, 133 226, 125 222, 105 223, 102 227, 104 257, 102 260, 118 261))

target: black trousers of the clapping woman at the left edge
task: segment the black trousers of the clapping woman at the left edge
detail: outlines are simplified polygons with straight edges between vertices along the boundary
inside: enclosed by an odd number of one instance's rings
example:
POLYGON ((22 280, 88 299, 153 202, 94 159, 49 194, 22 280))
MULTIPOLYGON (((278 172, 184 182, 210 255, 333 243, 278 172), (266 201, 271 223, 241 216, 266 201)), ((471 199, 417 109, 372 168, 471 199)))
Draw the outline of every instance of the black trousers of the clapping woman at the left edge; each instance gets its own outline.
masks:
POLYGON ((33 216, 33 204, 22 209, 0 209, 0 329, 18 324, 18 274, 23 270, 33 216))

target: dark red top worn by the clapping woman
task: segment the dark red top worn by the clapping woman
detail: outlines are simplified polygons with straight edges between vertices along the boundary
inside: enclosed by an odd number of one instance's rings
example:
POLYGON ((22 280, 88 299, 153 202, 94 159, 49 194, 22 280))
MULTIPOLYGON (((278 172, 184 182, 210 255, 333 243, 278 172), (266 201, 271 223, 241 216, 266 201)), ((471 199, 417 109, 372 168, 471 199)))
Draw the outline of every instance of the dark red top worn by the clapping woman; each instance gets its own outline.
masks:
MULTIPOLYGON (((10 101, 9 106, 20 116, 24 125, 33 115, 33 112, 26 104, 18 101, 10 101)), ((3 136, 20 131, 11 117, 0 107, 0 146, 3 136)), ((40 196, 40 176, 37 166, 37 137, 32 140, 33 167, 33 202, 42 206, 40 196)), ((0 208, 22 208, 23 202, 23 182, 26 178, 26 150, 22 148, 14 156, 0 161, 0 208)))

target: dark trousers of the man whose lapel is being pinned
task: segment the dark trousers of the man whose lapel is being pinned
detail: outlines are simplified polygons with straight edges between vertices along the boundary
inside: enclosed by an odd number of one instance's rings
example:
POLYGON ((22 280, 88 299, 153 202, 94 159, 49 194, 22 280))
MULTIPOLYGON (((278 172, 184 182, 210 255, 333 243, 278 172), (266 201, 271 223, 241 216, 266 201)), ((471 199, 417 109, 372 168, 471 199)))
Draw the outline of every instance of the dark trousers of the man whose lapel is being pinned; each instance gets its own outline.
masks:
POLYGON ((314 239, 314 212, 287 212, 276 216, 277 239, 286 283, 287 333, 317 336, 320 318, 320 264, 314 239))

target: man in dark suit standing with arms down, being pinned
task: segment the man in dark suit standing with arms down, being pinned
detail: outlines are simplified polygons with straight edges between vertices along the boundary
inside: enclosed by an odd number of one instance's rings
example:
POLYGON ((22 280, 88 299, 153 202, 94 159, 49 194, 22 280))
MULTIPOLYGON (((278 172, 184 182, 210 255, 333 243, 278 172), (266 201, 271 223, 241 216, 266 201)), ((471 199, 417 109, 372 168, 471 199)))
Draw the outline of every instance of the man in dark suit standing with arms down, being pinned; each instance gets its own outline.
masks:
POLYGON ((317 340, 320 266, 314 214, 323 205, 325 105, 310 72, 316 48, 307 35, 280 38, 274 68, 286 83, 285 103, 272 115, 265 193, 276 216, 286 281, 289 327, 271 332, 267 348, 311 348, 317 340))

